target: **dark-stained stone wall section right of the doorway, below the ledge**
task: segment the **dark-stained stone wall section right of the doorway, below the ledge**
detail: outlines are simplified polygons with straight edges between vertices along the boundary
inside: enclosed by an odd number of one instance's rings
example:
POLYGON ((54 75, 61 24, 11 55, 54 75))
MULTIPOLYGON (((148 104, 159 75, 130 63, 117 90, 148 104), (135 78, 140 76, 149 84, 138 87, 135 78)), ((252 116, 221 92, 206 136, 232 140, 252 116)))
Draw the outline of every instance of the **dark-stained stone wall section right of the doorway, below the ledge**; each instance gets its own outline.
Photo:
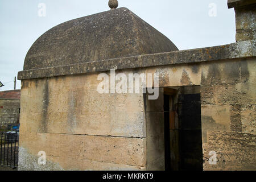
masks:
POLYGON ((204 169, 255 170, 255 59, 209 65, 201 81, 204 169), (217 164, 210 165, 210 151, 217 164))

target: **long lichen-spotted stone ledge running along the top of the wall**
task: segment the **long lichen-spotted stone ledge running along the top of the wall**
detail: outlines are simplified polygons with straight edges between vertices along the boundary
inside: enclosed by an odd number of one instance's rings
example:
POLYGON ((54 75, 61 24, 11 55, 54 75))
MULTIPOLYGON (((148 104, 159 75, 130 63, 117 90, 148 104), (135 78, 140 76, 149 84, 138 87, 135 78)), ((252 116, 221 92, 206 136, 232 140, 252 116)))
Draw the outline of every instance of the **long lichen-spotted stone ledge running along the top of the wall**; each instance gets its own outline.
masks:
POLYGON ((104 72, 110 69, 129 69, 156 67, 161 65, 174 65, 185 63, 200 63, 205 61, 216 61, 236 58, 253 57, 255 55, 254 43, 242 41, 225 46, 191 49, 185 51, 174 51, 166 53, 155 53, 122 57, 89 63, 62 65, 60 67, 31 69, 18 73, 18 79, 43 78, 64 75, 76 75, 81 73, 104 72))

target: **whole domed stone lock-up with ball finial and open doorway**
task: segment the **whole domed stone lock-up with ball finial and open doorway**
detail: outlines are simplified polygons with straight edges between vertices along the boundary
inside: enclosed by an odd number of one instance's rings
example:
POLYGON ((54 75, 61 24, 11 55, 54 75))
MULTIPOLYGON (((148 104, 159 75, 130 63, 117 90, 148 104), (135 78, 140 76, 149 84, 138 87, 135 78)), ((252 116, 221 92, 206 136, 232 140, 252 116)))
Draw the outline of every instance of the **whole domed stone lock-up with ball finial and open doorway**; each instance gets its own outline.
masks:
POLYGON ((179 51, 116 0, 48 30, 18 73, 18 169, 256 169, 255 46, 239 22, 255 3, 243 3, 228 4, 239 37, 225 46, 179 51))

